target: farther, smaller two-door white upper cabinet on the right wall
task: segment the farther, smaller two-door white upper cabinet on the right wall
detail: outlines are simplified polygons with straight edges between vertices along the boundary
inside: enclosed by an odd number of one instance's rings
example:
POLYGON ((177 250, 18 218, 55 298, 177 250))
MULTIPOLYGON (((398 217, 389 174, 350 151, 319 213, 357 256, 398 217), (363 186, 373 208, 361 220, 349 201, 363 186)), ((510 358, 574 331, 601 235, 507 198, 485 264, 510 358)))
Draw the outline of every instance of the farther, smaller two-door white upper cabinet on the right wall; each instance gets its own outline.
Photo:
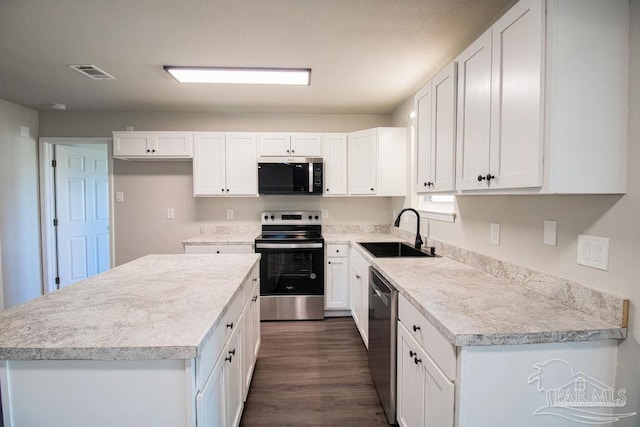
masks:
POLYGON ((456 64, 450 63, 415 97, 418 193, 455 187, 456 64))

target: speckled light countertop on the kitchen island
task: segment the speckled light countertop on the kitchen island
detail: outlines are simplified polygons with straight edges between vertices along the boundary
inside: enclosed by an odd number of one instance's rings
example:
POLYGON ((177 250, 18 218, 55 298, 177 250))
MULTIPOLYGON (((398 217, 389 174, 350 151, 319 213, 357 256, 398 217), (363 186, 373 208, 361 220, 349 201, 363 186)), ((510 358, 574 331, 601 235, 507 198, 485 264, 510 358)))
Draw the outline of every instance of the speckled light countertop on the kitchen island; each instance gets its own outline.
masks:
POLYGON ((0 312, 0 360, 191 359, 258 254, 148 255, 0 312))

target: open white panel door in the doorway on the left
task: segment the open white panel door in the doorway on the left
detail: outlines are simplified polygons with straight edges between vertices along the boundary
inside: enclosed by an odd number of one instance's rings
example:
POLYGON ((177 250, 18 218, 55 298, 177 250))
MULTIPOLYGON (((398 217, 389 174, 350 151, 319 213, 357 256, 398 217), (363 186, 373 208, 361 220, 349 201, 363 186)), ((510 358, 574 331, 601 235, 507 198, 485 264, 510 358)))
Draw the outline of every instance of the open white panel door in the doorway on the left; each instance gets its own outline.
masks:
POLYGON ((106 146, 56 145, 59 287, 110 266, 106 146))

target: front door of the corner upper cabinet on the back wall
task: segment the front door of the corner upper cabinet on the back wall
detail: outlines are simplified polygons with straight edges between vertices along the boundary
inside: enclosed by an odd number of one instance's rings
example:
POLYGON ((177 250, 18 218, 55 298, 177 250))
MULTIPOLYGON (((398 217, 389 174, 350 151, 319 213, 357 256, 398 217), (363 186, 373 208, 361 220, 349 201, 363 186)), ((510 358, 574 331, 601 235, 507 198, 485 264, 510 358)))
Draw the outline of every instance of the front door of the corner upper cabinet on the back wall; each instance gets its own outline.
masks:
POLYGON ((374 196, 378 177, 377 129, 353 132, 347 139, 349 193, 374 196))

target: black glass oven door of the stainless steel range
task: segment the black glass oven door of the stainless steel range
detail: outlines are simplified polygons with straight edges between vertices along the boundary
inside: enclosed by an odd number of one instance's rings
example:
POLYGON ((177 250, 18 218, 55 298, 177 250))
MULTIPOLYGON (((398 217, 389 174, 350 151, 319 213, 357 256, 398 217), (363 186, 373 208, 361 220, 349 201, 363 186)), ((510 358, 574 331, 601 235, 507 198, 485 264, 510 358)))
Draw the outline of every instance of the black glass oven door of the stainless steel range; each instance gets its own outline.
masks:
POLYGON ((324 295, 323 243, 256 242, 260 295, 324 295))

